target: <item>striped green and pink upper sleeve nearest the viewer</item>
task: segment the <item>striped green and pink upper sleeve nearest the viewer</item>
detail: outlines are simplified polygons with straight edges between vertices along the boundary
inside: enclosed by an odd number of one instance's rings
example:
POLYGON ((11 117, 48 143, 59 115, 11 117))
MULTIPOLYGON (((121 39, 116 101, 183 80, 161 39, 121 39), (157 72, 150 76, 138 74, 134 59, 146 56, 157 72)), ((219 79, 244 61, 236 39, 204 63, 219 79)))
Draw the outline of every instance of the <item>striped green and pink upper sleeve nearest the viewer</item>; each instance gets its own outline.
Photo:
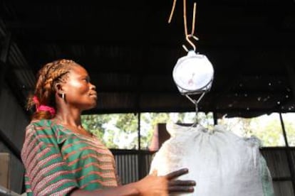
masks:
POLYGON ((26 168, 27 191, 33 195, 68 195, 78 187, 50 127, 27 127, 21 158, 26 168))

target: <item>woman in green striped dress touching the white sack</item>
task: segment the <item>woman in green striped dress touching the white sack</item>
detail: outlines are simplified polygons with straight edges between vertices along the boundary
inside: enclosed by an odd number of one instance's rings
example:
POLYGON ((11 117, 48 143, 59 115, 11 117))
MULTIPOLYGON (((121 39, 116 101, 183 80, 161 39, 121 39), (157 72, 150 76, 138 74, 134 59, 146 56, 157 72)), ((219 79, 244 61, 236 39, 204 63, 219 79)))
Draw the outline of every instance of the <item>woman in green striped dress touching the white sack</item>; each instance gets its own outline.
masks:
POLYGON ((81 125, 81 112, 96 105, 95 86, 87 71, 72 60, 50 62, 38 72, 28 108, 36 107, 21 158, 28 195, 168 195, 193 192, 192 180, 173 180, 154 172, 118 185, 110 151, 81 125))

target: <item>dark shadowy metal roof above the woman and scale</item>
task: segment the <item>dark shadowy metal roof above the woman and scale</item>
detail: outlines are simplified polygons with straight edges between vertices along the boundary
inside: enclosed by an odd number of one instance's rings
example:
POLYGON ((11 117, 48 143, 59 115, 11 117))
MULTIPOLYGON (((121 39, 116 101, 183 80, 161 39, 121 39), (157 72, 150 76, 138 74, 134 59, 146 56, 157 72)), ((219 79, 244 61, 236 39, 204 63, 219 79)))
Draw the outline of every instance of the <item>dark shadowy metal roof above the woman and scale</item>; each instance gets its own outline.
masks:
MULTIPOLYGON (((186 52, 182 4, 167 24, 171 6, 156 0, 4 1, 0 16, 14 42, 9 64, 21 91, 33 87, 41 65, 70 58, 86 67, 98 89, 98 107, 89 112, 193 111, 172 80, 186 52)), ((192 1, 188 21, 190 9, 192 1)), ((294 27, 293 1, 198 1, 197 51, 215 70, 200 110, 233 116, 295 111, 294 27)))

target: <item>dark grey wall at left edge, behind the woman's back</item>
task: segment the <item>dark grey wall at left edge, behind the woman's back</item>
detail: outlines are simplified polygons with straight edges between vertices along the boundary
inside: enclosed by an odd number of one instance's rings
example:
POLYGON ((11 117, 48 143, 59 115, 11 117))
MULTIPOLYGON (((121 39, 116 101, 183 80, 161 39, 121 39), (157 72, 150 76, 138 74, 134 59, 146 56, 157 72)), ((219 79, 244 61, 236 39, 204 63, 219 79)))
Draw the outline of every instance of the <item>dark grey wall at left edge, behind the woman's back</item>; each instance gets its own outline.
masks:
POLYGON ((0 94, 0 152, 10 154, 10 189, 21 193, 24 167, 19 159, 29 119, 4 83, 0 94))

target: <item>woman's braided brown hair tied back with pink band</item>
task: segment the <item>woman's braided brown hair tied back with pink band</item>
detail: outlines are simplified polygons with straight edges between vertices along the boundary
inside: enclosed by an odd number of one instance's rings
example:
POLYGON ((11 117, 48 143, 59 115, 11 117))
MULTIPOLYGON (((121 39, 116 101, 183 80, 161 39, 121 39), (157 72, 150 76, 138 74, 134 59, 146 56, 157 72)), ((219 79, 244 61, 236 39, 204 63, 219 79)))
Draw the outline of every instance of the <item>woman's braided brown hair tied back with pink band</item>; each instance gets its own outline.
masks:
POLYGON ((35 91, 29 96, 27 103, 27 109, 36 107, 32 119, 52 119, 54 117, 49 111, 37 108, 39 105, 45 105, 56 109, 55 85, 57 82, 65 82, 68 72, 75 65, 78 64, 73 60, 62 59, 49 62, 38 71, 35 91))

